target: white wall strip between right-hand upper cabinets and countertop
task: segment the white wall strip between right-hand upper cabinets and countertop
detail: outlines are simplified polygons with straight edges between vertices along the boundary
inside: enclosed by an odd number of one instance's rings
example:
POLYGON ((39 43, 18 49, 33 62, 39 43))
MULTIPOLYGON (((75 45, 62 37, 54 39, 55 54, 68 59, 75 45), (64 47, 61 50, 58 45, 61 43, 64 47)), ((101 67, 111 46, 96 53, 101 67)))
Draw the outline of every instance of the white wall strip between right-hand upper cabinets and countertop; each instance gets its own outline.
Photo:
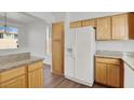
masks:
POLYGON ((134 52, 134 41, 96 41, 97 51, 134 52))

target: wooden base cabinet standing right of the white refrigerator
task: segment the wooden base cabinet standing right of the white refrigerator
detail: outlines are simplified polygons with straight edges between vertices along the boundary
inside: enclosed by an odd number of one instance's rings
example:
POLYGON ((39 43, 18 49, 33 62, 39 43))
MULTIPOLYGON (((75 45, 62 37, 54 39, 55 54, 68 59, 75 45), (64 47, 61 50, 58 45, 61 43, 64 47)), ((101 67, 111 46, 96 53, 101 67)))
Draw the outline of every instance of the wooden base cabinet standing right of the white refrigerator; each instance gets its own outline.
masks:
POLYGON ((123 65, 121 59, 95 58, 95 82, 111 86, 123 87, 123 65))

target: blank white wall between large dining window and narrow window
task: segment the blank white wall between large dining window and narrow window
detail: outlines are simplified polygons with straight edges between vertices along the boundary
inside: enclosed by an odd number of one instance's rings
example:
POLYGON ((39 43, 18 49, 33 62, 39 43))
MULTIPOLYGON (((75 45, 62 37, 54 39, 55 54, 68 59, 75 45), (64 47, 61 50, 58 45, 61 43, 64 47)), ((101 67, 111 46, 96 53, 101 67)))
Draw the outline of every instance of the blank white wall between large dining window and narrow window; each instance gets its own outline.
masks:
POLYGON ((46 23, 37 20, 28 25, 28 48, 32 56, 45 55, 45 29, 46 23))

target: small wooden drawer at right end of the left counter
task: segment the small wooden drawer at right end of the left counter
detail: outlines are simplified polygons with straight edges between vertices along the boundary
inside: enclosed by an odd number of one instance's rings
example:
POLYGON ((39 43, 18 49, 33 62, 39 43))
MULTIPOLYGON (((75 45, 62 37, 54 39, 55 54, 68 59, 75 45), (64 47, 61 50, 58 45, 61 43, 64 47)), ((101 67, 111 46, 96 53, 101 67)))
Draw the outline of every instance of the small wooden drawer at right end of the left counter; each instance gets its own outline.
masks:
POLYGON ((43 61, 37 61, 28 66, 28 71, 34 71, 43 67, 43 61))

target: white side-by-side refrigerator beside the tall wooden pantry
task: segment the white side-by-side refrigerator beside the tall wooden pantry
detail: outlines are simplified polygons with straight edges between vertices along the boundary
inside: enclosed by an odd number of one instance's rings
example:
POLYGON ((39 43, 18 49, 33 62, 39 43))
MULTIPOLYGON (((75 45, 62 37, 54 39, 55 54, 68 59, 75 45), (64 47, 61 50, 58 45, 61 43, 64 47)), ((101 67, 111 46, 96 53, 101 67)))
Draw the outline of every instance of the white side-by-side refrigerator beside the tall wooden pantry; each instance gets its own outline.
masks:
POLYGON ((65 77, 80 84, 94 83, 95 30, 69 29, 65 34, 65 77))

